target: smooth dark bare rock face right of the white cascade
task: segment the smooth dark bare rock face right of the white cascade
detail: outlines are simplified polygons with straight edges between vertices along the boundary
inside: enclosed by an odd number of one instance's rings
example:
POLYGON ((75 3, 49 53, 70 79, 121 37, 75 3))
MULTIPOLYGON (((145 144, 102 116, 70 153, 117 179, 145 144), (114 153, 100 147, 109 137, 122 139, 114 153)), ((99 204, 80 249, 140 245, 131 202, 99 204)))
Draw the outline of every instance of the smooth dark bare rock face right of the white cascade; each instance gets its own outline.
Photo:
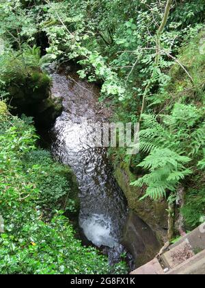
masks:
POLYGON ((126 218, 122 245, 133 255, 136 267, 151 261, 161 248, 151 228, 133 211, 126 218))

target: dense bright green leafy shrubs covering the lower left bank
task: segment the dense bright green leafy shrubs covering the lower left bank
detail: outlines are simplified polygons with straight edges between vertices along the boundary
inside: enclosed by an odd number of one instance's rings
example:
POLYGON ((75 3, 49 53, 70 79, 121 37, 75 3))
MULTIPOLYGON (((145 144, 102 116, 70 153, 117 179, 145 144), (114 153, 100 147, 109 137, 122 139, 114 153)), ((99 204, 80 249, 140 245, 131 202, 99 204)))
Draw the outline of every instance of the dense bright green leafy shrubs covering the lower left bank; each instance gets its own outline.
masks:
POLYGON ((1 273, 126 272, 124 263, 109 267, 96 249, 83 247, 64 211, 57 212, 72 183, 66 167, 36 149, 38 137, 31 119, 0 115, 0 132, 0 213, 5 224, 0 235, 1 273), (44 219, 46 210, 51 219, 44 219))

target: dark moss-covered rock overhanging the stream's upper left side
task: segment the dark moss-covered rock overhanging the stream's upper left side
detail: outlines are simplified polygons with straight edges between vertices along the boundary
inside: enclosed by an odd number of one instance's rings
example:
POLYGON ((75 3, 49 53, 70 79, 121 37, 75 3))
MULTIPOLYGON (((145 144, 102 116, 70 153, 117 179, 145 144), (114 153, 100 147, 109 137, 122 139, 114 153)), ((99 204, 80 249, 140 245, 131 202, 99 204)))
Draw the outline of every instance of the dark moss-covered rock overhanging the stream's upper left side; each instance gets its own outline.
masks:
POLYGON ((39 127, 50 128, 62 111, 61 99, 51 95, 51 77, 38 67, 40 56, 31 51, 23 55, 8 55, 0 60, 1 80, 9 93, 12 113, 31 116, 39 127))

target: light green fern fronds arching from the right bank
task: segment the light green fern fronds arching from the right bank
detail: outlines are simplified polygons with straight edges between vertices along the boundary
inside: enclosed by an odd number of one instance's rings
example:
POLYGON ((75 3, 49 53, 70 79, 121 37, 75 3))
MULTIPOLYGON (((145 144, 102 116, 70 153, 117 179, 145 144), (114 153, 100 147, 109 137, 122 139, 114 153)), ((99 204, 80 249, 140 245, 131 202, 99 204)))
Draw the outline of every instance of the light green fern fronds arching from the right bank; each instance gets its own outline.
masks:
MULTIPOLYGON (((202 158, 205 146, 204 109, 175 104, 170 115, 143 115, 140 136, 141 152, 148 154, 138 165, 148 169, 142 178, 132 184, 146 187, 146 195, 157 200, 167 191, 176 192, 178 184, 192 173, 192 163, 202 158)), ((143 198, 144 198, 143 197, 143 198)))

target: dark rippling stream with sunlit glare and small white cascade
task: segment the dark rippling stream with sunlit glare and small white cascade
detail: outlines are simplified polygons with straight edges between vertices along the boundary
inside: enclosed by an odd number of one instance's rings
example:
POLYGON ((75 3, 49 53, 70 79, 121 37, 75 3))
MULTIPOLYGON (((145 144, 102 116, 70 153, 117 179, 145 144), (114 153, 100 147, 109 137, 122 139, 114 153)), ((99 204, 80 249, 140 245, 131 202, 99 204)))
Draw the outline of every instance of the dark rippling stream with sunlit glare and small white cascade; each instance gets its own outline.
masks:
POLYGON ((53 127, 53 154, 70 165, 77 176, 81 211, 79 225, 94 245, 108 248, 116 261, 123 251, 120 244, 127 214, 126 201, 107 158, 107 148, 95 147, 94 123, 107 122, 109 109, 98 103, 98 88, 79 80, 77 75, 53 73, 53 95, 63 99, 64 111, 53 127), (86 119, 87 120, 86 120, 86 119))

